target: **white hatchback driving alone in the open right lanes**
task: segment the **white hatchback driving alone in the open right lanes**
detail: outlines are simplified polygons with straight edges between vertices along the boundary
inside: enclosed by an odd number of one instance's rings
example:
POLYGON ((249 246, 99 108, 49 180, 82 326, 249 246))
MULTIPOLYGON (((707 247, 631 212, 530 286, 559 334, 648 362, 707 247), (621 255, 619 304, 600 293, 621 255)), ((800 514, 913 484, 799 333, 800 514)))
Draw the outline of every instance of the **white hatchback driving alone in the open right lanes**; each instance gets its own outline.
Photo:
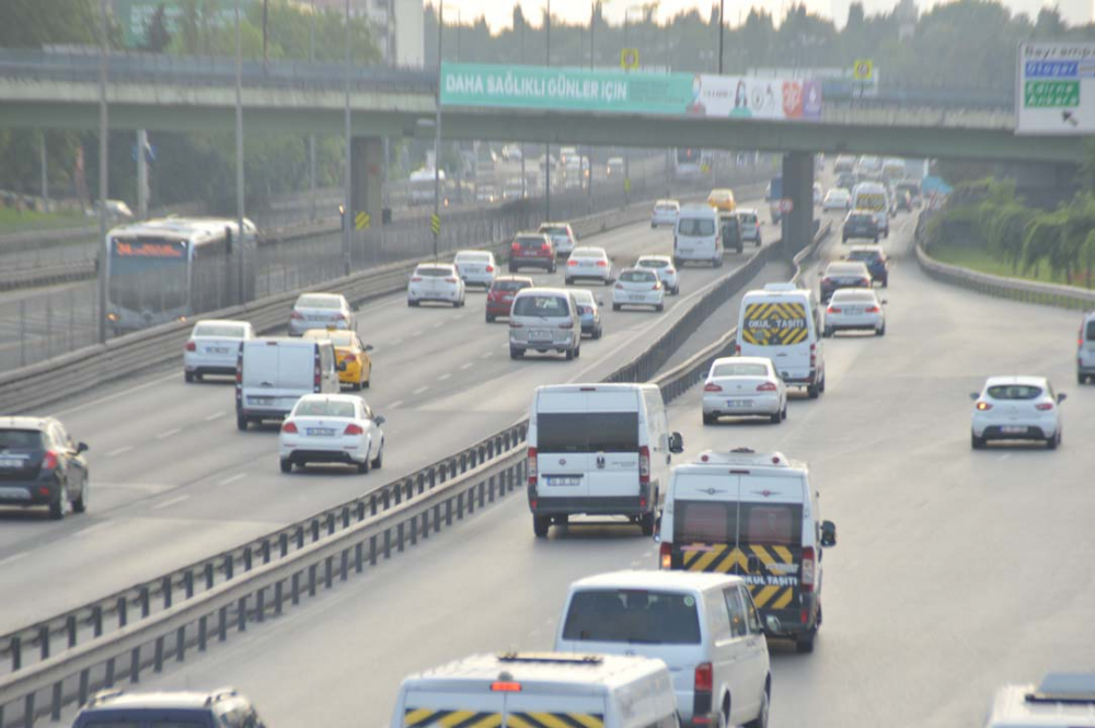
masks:
POLYGON ((1045 377, 990 377, 973 400, 970 441, 975 450, 989 440, 1039 440, 1050 450, 1061 444, 1064 393, 1045 377))

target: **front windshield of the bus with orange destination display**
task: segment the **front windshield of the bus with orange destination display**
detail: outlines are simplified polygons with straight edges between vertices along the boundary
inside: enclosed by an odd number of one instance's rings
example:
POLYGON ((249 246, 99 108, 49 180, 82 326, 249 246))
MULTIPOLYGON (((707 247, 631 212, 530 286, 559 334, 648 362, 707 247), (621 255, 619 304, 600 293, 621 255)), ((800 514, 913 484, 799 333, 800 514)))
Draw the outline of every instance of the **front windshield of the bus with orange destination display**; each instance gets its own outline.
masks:
POLYGON ((111 303, 161 313, 186 305, 188 243, 163 238, 111 240, 111 303))

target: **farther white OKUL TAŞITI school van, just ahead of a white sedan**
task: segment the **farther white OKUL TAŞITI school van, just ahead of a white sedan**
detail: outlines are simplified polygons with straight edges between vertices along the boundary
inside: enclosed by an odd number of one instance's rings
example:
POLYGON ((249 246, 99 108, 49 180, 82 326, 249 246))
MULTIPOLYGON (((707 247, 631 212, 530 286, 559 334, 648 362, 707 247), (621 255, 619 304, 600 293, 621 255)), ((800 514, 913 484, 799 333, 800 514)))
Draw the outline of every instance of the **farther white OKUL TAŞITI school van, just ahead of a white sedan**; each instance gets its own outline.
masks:
POLYGON ((741 299, 737 354, 771 359, 784 383, 805 386, 817 398, 825 392, 823 333, 814 291, 768 284, 741 299))

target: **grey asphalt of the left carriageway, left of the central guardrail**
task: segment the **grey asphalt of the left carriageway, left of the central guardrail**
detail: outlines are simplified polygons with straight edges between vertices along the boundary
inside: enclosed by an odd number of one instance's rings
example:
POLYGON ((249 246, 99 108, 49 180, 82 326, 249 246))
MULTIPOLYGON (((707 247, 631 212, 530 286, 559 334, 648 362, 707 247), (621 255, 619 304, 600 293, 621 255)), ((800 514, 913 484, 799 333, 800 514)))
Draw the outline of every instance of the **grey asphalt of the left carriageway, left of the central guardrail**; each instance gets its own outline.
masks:
MULTIPOLYGON (((765 232, 776 236, 771 226, 765 232)), ((618 269, 638 254, 670 252, 671 241, 669 229, 647 222, 588 239, 615 256, 618 269)), ((587 339, 572 362, 511 361, 508 328, 485 323, 477 290, 458 310, 408 309, 403 294, 362 307, 359 331, 376 347, 365 396, 389 420, 384 470, 368 476, 337 467, 280 474, 276 427, 237 431, 228 378, 187 385, 178 368, 160 369, 57 407, 48 414, 91 446, 89 513, 51 522, 44 510, 0 509, 5 590, 36 596, 2 600, 0 632, 196 562, 457 452, 523 416, 535 385, 614 370, 705 284, 737 265, 731 255, 718 270, 685 269, 681 296, 669 297, 660 314, 608 305, 603 338, 587 339)), ((533 277, 562 285, 562 269, 533 277)), ((610 288, 598 292, 610 303, 610 288)))

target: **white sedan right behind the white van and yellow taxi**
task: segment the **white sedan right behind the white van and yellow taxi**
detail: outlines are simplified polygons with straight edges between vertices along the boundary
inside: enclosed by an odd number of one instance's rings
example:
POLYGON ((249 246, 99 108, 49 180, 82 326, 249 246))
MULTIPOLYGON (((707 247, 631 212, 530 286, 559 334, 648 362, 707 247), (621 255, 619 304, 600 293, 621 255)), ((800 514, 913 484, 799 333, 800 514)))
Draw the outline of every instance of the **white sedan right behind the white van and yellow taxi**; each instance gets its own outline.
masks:
POLYGON ((354 394, 306 394, 281 424, 281 472, 307 463, 345 463, 368 473, 384 462, 384 418, 354 394))

